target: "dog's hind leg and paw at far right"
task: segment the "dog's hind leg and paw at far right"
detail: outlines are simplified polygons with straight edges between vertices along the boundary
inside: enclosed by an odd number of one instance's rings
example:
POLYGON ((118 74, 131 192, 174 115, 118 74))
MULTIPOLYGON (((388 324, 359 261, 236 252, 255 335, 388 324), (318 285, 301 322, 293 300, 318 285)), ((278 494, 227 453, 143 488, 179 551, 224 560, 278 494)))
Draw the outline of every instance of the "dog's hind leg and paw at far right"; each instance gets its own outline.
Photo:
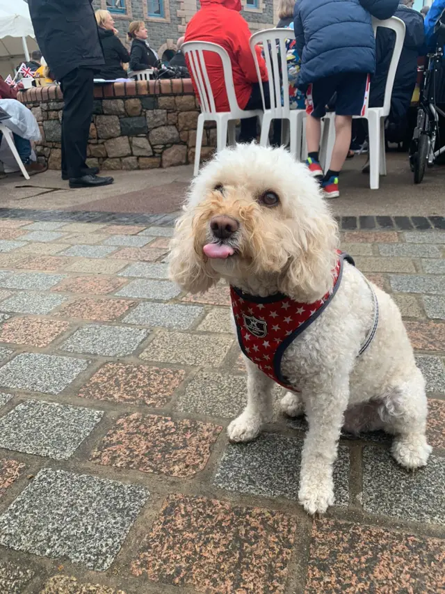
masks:
POLYGON ((380 414, 387 430, 396 435, 391 453, 397 462, 410 469, 425 466, 432 448, 425 435, 428 402, 425 380, 419 369, 410 380, 394 386, 380 414))

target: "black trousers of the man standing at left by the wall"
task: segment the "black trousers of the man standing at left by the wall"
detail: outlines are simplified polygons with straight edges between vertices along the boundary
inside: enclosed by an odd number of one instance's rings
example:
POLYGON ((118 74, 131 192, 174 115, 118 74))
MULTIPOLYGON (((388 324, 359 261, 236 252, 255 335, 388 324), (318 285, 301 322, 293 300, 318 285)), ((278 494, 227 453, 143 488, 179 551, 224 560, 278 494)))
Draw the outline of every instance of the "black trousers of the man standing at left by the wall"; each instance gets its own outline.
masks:
POLYGON ((62 171, 79 178, 86 170, 86 147, 94 101, 94 70, 74 68, 60 81, 63 92, 62 171))

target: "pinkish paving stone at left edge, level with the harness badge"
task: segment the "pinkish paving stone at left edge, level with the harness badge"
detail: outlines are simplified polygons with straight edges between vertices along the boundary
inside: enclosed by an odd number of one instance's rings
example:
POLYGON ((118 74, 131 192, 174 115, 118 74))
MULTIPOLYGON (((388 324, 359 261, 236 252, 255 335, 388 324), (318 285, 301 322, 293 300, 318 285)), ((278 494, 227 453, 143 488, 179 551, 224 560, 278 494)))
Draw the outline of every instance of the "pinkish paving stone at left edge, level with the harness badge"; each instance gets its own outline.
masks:
POLYGON ((63 320, 13 318, 0 328, 0 341, 31 347, 47 347, 69 326, 69 322, 63 320))

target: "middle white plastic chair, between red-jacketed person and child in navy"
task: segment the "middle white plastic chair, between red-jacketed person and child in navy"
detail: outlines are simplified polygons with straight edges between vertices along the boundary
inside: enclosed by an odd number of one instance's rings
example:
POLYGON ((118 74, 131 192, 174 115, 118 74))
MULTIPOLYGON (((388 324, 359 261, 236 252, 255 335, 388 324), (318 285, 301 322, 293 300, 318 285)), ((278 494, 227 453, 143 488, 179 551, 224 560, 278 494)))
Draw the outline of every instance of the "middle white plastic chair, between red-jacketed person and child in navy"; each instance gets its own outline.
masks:
MULTIPOLYGON (((261 146, 267 146, 270 123, 272 120, 288 120, 290 127, 290 150, 296 159, 301 158, 303 141, 303 121, 306 117, 305 109, 290 109, 289 102, 289 77, 287 75, 286 40, 293 37, 291 29, 266 29, 258 31, 250 38, 250 49, 254 57, 255 67, 261 89, 264 116, 261 125, 261 146), (264 48, 264 59, 268 74, 270 94, 270 108, 266 109, 264 91, 261 84, 261 74, 255 47, 261 44, 264 48)), ((283 141, 282 134, 282 141, 283 141)))

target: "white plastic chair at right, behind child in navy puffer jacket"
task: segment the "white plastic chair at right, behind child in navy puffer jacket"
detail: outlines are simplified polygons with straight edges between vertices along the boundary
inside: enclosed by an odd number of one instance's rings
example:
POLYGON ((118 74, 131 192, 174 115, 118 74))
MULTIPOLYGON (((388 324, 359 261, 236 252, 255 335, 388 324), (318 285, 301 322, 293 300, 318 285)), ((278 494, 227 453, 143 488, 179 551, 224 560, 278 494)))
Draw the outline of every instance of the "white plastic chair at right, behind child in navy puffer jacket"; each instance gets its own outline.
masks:
MULTIPOLYGON (((373 18, 374 36, 377 34, 378 27, 392 29, 396 33, 396 43, 394 52, 389 64, 387 84, 385 86, 385 99, 383 107, 368 107, 369 93, 366 97, 366 107, 364 116, 354 116, 355 119, 364 118, 368 120, 369 130, 369 187, 378 189, 380 185, 380 175, 387 174, 387 161, 385 155, 385 118, 389 116, 391 110, 391 95, 394 86, 394 78, 398 61, 400 60, 403 42, 405 40, 405 23, 397 17, 391 17, 385 21, 373 18)), ((325 116, 325 125, 320 143, 320 162, 323 171, 327 171, 332 157, 332 148, 335 141, 334 112, 325 116)))

